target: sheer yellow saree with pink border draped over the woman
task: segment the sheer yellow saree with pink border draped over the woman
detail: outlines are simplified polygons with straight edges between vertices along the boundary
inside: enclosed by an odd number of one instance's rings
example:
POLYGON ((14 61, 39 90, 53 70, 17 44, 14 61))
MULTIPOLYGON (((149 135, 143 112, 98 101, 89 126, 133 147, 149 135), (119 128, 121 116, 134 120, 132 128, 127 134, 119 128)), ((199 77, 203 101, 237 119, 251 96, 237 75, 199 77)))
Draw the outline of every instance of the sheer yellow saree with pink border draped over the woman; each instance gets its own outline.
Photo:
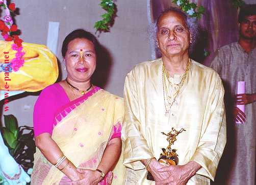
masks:
MULTIPOLYGON (((95 87, 71 101, 56 114, 52 139, 74 166, 95 170, 116 130, 121 130, 123 100, 95 87)), ((119 159, 119 161, 122 159, 119 159)), ((99 184, 121 184, 124 167, 118 162, 99 184)), ((31 184, 70 184, 71 180, 50 164, 37 148, 31 184)))

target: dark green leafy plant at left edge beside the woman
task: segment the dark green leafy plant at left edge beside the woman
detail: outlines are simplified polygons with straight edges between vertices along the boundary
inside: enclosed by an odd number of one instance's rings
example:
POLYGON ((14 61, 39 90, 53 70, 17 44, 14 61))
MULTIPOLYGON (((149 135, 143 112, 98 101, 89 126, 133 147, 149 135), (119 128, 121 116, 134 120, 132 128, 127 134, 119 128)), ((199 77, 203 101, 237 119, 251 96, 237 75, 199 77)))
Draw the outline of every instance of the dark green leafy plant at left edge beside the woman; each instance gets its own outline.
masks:
POLYGON ((18 127, 14 115, 4 115, 5 127, 2 127, 2 136, 10 154, 25 171, 33 167, 34 153, 36 152, 33 127, 18 127))

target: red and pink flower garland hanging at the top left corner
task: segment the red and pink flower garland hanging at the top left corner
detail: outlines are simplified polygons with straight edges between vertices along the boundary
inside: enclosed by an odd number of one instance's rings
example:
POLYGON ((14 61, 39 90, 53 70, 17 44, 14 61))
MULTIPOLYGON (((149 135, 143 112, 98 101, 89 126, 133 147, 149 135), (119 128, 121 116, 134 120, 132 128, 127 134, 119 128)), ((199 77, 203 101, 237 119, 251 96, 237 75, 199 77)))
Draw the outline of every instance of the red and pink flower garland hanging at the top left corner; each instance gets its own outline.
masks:
POLYGON ((0 0, 0 7, 4 7, 5 9, 5 16, 3 20, 0 20, 0 30, 2 32, 2 36, 5 39, 5 41, 13 41, 14 44, 12 44, 12 49, 17 51, 15 53, 15 58, 13 58, 9 64, 2 64, 0 66, 0 72, 16 72, 19 70, 20 67, 24 64, 24 54, 25 52, 22 51, 22 40, 19 38, 19 36, 15 33, 17 31, 17 25, 13 24, 13 20, 11 17, 11 13, 14 13, 16 10, 15 4, 10 3, 9 6, 7 6, 6 0, 0 0))

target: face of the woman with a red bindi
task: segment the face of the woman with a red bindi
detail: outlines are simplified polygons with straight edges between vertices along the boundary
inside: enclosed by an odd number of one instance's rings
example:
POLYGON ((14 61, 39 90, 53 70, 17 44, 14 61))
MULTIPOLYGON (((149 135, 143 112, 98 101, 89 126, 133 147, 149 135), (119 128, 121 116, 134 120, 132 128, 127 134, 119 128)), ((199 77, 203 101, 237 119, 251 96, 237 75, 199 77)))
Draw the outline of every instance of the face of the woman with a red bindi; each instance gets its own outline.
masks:
POLYGON ((68 43, 65 55, 67 78, 76 82, 90 81, 96 68, 94 44, 84 38, 77 38, 68 43))

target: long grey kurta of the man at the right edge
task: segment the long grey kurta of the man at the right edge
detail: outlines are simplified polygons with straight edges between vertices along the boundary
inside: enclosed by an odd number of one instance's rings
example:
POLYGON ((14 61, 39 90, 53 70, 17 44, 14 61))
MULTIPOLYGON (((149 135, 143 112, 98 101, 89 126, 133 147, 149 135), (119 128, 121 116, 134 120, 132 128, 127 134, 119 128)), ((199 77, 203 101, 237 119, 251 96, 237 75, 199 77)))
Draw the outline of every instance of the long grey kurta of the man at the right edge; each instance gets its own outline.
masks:
MULTIPOLYGON (((246 121, 236 124, 232 119, 233 96, 237 82, 245 81, 245 93, 256 93, 256 48, 246 53, 238 42, 221 47, 211 63, 224 84, 227 113, 227 148, 222 173, 223 184, 256 184, 256 102, 245 105, 246 121)), ((220 175, 221 175, 220 174, 220 175)), ((220 179, 220 180, 219 180, 220 179)), ((218 184, 218 183, 217 183, 218 184)))

